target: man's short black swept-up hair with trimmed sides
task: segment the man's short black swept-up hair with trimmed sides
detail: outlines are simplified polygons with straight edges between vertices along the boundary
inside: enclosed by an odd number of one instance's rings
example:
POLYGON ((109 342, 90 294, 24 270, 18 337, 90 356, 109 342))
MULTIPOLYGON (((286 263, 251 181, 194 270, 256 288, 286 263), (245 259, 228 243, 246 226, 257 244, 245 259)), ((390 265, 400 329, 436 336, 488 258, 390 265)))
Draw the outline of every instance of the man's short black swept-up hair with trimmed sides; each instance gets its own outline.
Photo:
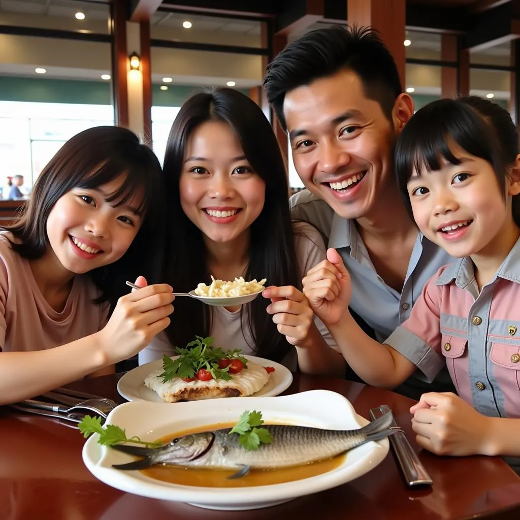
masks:
POLYGON ((341 69, 355 72, 365 95, 378 101, 385 116, 391 119, 395 100, 402 93, 392 54, 368 27, 332 25, 310 31, 287 45, 267 66, 264 88, 284 130, 285 94, 341 69))

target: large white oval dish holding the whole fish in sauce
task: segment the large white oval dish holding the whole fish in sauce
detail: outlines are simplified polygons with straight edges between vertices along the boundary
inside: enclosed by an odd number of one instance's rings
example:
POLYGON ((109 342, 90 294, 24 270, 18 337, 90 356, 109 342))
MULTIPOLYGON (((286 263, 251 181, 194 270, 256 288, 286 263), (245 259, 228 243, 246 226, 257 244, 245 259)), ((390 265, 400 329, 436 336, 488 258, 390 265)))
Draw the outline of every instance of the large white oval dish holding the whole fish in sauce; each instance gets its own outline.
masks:
MULTIPOLYGON (((366 419, 357 415, 350 402, 329 390, 311 390, 279 397, 242 397, 167 403, 134 401, 110 412, 106 424, 116 424, 127 436, 156 440, 168 434, 198 426, 237 421, 244 410, 260 410, 266 422, 284 422, 332 430, 354 430, 366 419)), ((159 500, 187 502, 201 508, 220 510, 259 509, 287 502, 345 484, 374 469, 388 453, 388 439, 369 442, 350 450, 342 464, 315 477, 268 486, 205 488, 170 484, 147 477, 139 471, 115 470, 112 464, 135 460, 126 453, 97 443, 98 435, 87 439, 83 461, 101 482, 116 489, 159 500)))

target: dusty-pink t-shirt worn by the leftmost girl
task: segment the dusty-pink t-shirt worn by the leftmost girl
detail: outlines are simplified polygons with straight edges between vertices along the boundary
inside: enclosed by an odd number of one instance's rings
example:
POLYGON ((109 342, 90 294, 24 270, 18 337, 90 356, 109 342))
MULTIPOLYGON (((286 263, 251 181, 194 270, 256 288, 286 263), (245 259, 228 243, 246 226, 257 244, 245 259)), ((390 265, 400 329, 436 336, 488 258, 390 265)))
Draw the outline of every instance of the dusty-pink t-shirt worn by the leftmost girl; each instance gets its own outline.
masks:
POLYGON ((87 276, 74 277, 67 303, 58 313, 46 302, 27 259, 0 233, 0 351, 44 350, 101 330, 106 306, 93 303, 98 289, 87 276))

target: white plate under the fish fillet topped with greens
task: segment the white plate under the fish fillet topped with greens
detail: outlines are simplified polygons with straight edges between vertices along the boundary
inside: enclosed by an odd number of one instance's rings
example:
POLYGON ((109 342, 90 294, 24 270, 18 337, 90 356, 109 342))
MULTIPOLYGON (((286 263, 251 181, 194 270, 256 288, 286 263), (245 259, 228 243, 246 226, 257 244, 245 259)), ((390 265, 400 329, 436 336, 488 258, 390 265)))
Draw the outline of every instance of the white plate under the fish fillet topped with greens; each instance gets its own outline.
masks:
MULTIPOLYGON (((179 356, 172 356, 172 359, 178 357, 179 356)), ((278 395, 285 389, 289 388, 292 383, 292 373, 287 367, 284 367, 275 361, 270 361, 269 359, 259 358, 256 356, 244 357, 249 361, 258 363, 258 365, 275 369, 274 372, 270 373, 270 378, 266 385, 250 397, 278 395)), ((145 378, 154 370, 159 370, 160 368, 162 368, 162 359, 157 359, 126 372, 118 382, 119 394, 128 401, 163 402, 157 392, 154 392, 145 386, 145 378)), ((227 399, 232 398, 227 397, 227 399)), ((243 399, 243 397, 241 399, 243 399)))

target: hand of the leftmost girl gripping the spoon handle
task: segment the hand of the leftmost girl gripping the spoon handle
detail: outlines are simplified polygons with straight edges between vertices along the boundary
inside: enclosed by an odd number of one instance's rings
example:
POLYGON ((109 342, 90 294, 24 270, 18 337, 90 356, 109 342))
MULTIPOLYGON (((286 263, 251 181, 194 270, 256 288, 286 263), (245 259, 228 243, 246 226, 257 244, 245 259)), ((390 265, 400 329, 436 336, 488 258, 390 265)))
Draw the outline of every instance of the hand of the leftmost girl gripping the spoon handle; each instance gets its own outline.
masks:
POLYGON ((97 333, 107 364, 134 356, 170 324, 175 298, 170 285, 147 285, 142 276, 135 283, 141 289, 119 298, 108 323, 97 333))

